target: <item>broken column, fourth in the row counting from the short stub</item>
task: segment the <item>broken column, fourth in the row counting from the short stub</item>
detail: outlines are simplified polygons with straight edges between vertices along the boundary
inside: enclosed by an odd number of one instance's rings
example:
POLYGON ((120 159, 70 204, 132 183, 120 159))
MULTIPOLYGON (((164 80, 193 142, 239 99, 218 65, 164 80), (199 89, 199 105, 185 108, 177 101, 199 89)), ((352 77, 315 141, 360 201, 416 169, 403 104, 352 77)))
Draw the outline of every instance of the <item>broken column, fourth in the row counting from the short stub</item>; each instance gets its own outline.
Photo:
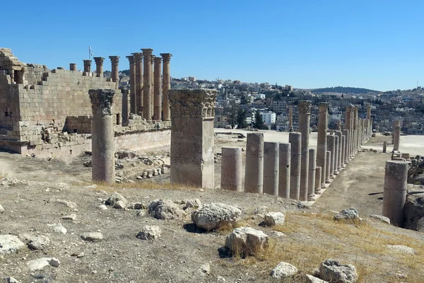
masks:
POLYGON ((290 198, 290 144, 280 144, 278 158, 278 196, 290 198))

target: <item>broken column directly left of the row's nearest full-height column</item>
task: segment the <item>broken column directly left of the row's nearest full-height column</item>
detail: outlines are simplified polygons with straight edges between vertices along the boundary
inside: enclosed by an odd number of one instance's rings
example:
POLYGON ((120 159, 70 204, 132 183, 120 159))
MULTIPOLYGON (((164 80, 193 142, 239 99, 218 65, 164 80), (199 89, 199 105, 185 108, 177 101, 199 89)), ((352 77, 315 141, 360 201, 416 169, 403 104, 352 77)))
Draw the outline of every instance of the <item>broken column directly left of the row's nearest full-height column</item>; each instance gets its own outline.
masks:
POLYGON ((299 200, 300 197, 300 154, 301 154, 300 132, 290 132, 288 142, 290 143, 290 199, 299 200))

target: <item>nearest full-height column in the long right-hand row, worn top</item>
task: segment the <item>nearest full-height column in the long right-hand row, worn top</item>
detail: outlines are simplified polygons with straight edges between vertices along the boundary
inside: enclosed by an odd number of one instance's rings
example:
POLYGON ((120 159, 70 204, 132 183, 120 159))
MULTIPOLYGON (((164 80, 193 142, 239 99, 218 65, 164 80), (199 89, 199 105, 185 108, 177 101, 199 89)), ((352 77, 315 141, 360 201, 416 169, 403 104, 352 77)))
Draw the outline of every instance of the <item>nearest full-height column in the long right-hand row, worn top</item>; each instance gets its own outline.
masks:
POLYGON ((302 156, 300 168, 300 200, 307 200, 309 173, 309 137, 311 101, 299 101, 299 132, 302 134, 302 156))

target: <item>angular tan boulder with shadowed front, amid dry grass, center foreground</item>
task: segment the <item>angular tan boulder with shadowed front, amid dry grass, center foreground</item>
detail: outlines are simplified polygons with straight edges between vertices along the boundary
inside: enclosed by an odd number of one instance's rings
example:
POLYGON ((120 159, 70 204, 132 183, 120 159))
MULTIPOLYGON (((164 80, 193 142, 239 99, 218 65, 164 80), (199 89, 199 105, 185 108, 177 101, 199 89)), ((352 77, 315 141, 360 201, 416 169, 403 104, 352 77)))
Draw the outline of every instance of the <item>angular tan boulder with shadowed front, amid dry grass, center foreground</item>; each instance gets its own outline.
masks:
POLYGON ((225 246, 235 255, 256 255, 268 246, 268 236, 260 230, 240 227, 227 236, 225 246))

